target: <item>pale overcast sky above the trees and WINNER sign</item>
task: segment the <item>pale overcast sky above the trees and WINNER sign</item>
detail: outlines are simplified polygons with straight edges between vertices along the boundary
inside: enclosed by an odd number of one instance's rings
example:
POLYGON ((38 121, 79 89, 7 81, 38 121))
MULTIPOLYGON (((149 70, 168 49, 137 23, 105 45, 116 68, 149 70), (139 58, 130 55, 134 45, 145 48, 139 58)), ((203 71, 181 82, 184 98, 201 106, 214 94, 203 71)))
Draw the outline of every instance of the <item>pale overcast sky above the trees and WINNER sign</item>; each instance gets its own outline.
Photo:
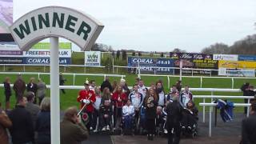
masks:
POLYGON ((200 52, 255 34, 256 0, 14 0, 14 20, 42 6, 82 10, 104 24, 115 50, 200 52))

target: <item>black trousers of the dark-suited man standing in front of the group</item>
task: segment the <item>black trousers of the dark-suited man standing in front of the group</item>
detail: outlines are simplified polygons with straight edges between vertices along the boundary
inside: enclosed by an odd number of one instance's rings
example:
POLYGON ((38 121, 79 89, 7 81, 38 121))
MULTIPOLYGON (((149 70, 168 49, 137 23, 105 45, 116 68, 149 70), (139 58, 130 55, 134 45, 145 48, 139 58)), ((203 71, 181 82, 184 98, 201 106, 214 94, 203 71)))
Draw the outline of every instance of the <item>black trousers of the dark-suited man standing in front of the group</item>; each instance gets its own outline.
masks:
POLYGON ((181 128, 179 124, 168 123, 168 144, 178 144, 180 141, 180 138, 181 138, 181 128))

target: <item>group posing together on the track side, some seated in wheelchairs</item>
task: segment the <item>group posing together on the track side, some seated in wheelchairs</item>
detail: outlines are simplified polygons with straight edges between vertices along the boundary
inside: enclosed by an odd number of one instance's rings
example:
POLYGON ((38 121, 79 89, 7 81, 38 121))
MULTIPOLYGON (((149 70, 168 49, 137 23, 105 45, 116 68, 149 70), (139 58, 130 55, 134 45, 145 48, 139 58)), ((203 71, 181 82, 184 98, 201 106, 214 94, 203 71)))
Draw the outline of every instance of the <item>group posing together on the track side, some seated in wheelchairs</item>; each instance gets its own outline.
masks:
POLYGON ((94 80, 86 80, 84 86, 77 101, 81 103, 82 118, 90 132, 113 130, 121 134, 147 134, 149 140, 153 140, 155 134, 169 132, 171 137, 168 138, 175 139, 170 140, 174 143, 179 141, 182 131, 194 130, 196 134, 198 110, 189 86, 181 91, 181 81, 167 93, 161 80, 147 88, 141 78, 135 80, 131 90, 123 78, 112 85, 106 78, 101 86, 96 86, 94 80))

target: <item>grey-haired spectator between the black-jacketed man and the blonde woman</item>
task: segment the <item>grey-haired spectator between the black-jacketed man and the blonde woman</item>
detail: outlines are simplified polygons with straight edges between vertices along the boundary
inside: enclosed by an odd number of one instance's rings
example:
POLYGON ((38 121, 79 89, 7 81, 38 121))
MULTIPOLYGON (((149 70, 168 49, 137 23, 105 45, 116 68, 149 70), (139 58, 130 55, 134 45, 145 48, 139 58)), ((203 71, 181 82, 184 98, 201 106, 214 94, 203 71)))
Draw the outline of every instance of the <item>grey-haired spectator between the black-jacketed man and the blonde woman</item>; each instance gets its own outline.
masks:
POLYGON ((34 92, 29 91, 26 93, 26 99, 27 99, 27 103, 26 103, 26 107, 25 109, 30 112, 31 117, 32 117, 32 121, 33 121, 33 126, 35 126, 35 122, 38 116, 38 113, 40 111, 40 107, 36 104, 34 104, 34 92))

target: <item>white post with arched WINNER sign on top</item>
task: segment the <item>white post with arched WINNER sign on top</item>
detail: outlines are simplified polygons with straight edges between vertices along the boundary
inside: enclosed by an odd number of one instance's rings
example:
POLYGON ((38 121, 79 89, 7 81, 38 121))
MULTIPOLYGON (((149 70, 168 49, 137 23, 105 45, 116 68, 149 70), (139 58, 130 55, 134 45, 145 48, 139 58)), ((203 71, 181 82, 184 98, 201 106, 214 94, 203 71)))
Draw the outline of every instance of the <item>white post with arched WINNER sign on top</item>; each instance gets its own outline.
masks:
POLYGON ((60 143, 58 37, 69 39, 82 50, 90 50, 103 25, 77 10, 46 6, 18 18, 10 33, 21 50, 29 50, 42 39, 50 38, 50 134, 51 144, 60 143))

